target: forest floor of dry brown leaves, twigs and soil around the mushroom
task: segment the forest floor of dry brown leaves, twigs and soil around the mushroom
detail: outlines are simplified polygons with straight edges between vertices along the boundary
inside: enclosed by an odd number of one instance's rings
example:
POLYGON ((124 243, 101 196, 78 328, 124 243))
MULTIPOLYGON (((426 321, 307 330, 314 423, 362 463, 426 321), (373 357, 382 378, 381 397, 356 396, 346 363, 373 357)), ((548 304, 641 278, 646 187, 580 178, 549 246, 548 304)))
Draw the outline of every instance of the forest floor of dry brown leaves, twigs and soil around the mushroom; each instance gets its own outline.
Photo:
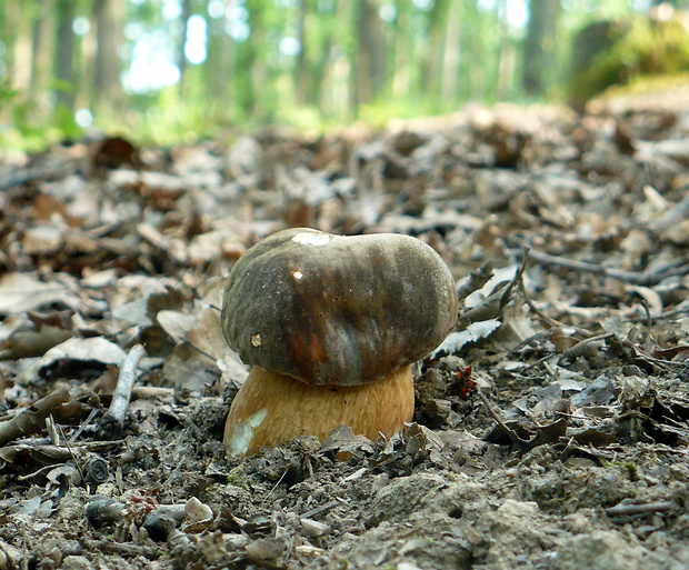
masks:
POLYGON ((689 567, 686 94, 1 158, 0 569, 689 567), (306 226, 426 241, 459 326, 389 441, 227 458, 222 279, 306 226))

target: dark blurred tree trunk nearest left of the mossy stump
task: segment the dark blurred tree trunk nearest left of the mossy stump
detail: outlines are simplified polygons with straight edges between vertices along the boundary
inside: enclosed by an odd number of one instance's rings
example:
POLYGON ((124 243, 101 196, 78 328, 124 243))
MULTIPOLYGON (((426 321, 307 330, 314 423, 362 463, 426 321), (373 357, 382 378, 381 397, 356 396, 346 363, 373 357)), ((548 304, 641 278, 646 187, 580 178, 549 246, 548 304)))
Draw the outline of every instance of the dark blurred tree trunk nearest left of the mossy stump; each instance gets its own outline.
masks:
POLYGON ((522 84, 529 97, 545 93, 556 61, 556 38, 560 0, 530 0, 525 40, 522 84))

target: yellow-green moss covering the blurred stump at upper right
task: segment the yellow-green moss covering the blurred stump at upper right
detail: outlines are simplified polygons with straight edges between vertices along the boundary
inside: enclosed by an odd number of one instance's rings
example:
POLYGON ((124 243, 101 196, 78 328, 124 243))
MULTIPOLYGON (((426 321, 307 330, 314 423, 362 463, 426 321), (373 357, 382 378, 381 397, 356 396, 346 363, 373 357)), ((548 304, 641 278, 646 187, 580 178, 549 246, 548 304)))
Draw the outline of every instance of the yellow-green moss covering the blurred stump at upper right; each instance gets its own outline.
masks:
POLYGON ((611 46, 572 77, 570 94, 586 101, 615 84, 689 71, 689 32, 679 20, 637 17, 610 28, 611 46))

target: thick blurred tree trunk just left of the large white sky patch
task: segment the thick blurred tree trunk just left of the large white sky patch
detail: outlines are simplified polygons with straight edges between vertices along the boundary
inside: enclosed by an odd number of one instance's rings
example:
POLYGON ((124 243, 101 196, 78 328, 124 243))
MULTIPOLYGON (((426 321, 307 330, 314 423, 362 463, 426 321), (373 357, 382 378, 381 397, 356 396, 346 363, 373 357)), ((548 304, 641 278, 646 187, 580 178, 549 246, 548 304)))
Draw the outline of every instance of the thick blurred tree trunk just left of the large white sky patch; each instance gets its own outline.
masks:
POLYGON ((120 0, 93 0, 96 61, 92 107, 97 112, 117 112, 122 107, 119 49, 126 6, 120 0))

